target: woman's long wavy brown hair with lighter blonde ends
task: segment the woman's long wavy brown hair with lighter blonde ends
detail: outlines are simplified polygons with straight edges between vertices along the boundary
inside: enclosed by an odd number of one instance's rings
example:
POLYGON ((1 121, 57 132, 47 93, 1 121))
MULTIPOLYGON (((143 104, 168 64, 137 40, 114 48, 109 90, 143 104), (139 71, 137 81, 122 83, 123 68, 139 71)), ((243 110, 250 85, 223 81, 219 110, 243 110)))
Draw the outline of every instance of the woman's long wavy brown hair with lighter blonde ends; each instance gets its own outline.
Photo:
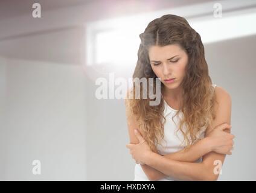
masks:
MULTIPOLYGON (((205 53, 200 35, 190 27, 184 17, 173 14, 166 14, 154 19, 147 25, 144 33, 139 34, 141 44, 138 50, 138 61, 133 73, 135 78, 157 78, 149 62, 150 46, 166 46, 178 44, 188 54, 188 64, 185 67, 185 77, 182 80, 182 104, 176 112, 183 113, 179 122, 178 130, 182 131, 185 149, 199 140, 198 133, 204 131, 213 123, 214 103, 216 96, 208 74, 208 66, 205 60, 205 53), (184 128, 185 125, 185 128, 184 128)), ((154 92, 155 92, 154 84, 154 92)), ((135 98, 135 82, 129 94, 129 112, 136 117, 138 127, 144 133, 143 137, 149 144, 152 151, 157 152, 156 145, 164 138, 164 98, 161 95, 160 104, 150 106, 148 98, 135 98)), ((149 84, 147 84, 149 87, 149 84)), ((161 90, 164 84, 161 83, 161 90)), ((142 90, 142 88, 141 88, 142 90)), ((173 117, 174 117, 173 116, 173 117)), ((173 119, 172 117, 172 119, 173 119)), ((182 143, 183 143, 182 142, 182 143)))

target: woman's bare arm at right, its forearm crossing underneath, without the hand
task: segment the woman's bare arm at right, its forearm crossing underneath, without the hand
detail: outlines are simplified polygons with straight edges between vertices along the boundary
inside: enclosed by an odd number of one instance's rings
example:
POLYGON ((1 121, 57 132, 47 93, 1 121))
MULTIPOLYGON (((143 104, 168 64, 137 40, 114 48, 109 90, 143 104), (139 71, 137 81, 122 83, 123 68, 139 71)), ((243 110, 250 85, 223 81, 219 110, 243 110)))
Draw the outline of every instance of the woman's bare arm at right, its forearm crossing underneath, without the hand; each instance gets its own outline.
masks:
MULTIPOLYGON (((231 97, 221 87, 216 87, 216 95, 219 106, 214 106, 216 110, 216 119, 213 127, 208 128, 206 137, 214 127, 224 122, 231 122, 231 97)), ((225 155, 211 151, 203 156, 202 163, 189 163, 177 160, 170 160, 167 157, 152 153, 145 160, 145 163, 167 176, 181 180, 217 180, 219 173, 214 173, 215 161, 224 162, 225 155)))

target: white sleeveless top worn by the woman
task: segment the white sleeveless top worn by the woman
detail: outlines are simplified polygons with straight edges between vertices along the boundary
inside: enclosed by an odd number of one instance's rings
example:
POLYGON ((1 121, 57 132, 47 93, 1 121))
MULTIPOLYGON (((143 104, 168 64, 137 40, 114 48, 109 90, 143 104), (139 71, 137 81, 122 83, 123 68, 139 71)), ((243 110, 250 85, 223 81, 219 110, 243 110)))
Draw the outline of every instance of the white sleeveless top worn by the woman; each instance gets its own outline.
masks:
MULTIPOLYGON (((216 84, 213 84, 213 87, 216 87, 216 84)), ((185 142, 182 144, 184 140, 184 136, 180 130, 178 130, 179 119, 182 118, 182 112, 178 114, 178 116, 174 116, 178 110, 171 108, 164 101, 164 117, 166 122, 164 124, 164 139, 160 142, 161 145, 157 145, 158 153, 161 155, 174 153, 176 151, 182 150, 185 147, 185 142), (174 116, 174 117, 173 117, 174 116), (173 117, 173 120, 171 119, 173 117), (178 131, 177 131, 178 130, 178 131), (176 132, 177 131, 177 132, 176 132)), ((197 137, 202 139, 205 137, 205 129, 202 129, 197 137)), ((202 157, 196 162, 202 162, 202 157)), ((145 172, 141 168, 140 164, 135 165, 135 179, 133 181, 149 181, 145 172)), ((158 181, 173 181, 178 179, 173 179, 171 177, 165 177, 164 179, 160 179, 158 181)))

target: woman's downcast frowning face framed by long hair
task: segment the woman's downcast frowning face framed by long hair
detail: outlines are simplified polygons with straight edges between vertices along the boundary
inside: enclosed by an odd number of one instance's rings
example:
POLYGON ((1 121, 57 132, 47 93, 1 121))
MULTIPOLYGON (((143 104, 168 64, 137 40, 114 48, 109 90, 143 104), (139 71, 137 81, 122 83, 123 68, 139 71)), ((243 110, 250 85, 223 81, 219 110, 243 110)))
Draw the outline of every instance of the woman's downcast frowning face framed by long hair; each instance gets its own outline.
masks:
POLYGON ((178 44, 167 46, 150 46, 150 65, 161 82, 168 89, 179 87, 188 63, 187 53, 178 44), (170 81, 170 78, 175 78, 170 81), (169 80, 169 81, 168 81, 169 80))

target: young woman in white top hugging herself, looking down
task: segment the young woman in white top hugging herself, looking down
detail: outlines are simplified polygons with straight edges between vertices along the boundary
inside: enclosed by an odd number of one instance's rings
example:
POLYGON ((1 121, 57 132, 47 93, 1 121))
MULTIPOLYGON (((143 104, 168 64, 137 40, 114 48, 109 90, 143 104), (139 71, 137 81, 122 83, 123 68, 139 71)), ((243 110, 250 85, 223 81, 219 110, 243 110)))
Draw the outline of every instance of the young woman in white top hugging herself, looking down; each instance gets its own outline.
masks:
POLYGON ((167 14, 139 37, 133 79, 160 78, 161 101, 125 100, 134 180, 217 180, 234 144, 231 96, 211 82, 200 35, 167 14))

